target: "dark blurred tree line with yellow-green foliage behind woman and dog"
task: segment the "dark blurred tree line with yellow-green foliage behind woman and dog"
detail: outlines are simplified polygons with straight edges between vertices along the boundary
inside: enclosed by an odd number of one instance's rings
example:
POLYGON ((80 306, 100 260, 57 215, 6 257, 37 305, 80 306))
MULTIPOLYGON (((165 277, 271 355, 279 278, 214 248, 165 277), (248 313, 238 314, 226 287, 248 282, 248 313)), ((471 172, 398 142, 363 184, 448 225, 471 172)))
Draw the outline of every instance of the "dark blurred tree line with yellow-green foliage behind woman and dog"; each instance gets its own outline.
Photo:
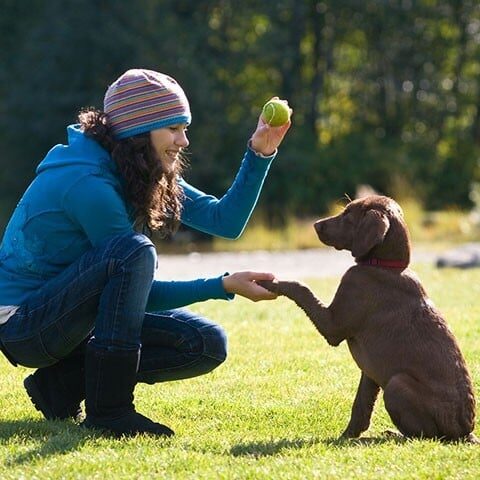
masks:
POLYGON ((0 220, 79 108, 123 71, 191 101, 188 180, 230 185, 263 103, 294 125, 265 217, 318 214, 370 184, 468 207, 479 177, 477 0, 0 0, 0 220))

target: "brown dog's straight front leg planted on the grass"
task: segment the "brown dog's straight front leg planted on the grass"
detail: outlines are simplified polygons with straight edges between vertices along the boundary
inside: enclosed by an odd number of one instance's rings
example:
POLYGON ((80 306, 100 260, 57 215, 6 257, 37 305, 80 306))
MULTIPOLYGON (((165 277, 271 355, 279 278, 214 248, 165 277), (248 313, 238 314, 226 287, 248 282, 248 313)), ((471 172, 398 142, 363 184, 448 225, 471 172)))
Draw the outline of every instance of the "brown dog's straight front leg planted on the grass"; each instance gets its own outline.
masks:
POLYGON ((340 438, 357 438, 368 429, 379 391, 380 387, 362 372, 350 422, 340 438))

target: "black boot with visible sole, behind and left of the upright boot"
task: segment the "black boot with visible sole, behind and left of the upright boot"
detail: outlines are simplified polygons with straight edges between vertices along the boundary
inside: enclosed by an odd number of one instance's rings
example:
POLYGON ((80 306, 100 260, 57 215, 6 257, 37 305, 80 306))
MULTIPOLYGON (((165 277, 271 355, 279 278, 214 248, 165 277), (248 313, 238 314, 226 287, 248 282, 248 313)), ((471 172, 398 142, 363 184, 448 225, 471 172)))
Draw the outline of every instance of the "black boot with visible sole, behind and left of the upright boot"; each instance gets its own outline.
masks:
POLYGON ((85 346, 23 381, 33 405, 47 420, 76 420, 85 398, 85 346))

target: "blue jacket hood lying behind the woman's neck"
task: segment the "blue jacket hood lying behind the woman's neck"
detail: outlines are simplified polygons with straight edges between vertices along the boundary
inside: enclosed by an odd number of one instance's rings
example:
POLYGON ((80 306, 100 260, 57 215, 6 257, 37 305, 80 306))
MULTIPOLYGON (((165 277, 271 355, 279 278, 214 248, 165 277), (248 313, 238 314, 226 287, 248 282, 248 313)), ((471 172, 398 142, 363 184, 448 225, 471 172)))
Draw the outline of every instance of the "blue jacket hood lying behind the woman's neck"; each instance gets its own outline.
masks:
POLYGON ((96 169, 107 167, 112 173, 117 169, 110 154, 95 140, 88 138, 80 129, 80 124, 67 127, 68 145, 55 145, 37 167, 36 173, 65 167, 90 165, 96 169))

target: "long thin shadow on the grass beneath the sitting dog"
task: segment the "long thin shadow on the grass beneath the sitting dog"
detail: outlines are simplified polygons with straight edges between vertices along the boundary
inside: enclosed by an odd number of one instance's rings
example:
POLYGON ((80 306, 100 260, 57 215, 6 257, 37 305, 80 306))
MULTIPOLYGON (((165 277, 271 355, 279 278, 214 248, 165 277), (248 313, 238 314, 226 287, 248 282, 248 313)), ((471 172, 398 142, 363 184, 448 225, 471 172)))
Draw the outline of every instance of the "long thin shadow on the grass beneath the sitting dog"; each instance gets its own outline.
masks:
POLYGON ((240 443, 230 449, 230 453, 234 457, 251 456, 251 457, 268 457, 277 455, 285 450, 298 450, 308 448, 313 445, 323 444, 335 448, 351 448, 357 446, 383 445, 385 443, 405 443, 407 440, 401 436, 382 435, 379 437, 361 437, 355 439, 342 438, 310 438, 310 439, 281 439, 270 442, 252 442, 240 443))

